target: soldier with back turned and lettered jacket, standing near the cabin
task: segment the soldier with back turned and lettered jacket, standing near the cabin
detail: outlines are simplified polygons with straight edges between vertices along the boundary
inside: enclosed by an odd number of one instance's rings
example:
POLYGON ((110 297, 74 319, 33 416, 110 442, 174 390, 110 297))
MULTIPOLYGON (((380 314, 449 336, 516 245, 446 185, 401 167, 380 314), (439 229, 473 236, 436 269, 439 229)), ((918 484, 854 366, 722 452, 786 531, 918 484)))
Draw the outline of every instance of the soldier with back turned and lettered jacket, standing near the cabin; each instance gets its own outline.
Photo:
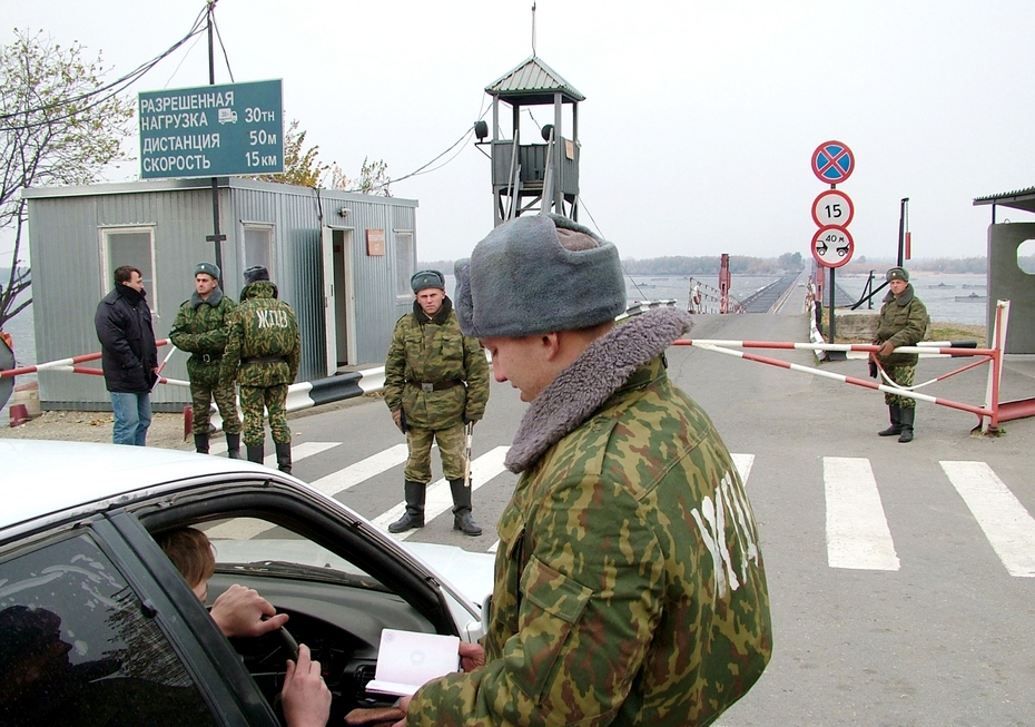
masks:
POLYGON ((230 315, 229 336, 223 355, 223 377, 237 380, 245 412, 245 446, 248 459, 262 463, 266 439, 263 409, 269 412, 269 430, 277 451, 277 469, 292 471, 292 430, 287 425, 287 387, 298 375, 302 338, 295 312, 277 299, 277 286, 265 267, 245 271, 240 304, 230 315))

